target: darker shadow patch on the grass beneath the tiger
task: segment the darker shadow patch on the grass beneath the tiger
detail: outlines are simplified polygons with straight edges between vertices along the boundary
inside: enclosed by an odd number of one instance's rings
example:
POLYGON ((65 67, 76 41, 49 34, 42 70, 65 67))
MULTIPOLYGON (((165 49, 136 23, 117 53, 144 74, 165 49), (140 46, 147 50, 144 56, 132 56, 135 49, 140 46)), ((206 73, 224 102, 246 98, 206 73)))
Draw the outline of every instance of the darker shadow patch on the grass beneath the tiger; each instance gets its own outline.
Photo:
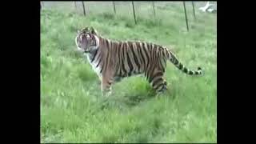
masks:
MULTIPOLYGON (((97 83, 98 85, 100 84, 100 82, 97 83)), ((88 113, 94 115, 100 110, 121 110, 124 112, 134 106, 139 106, 140 104, 150 101, 152 98, 155 98, 155 100, 158 98, 167 98, 172 101, 177 95, 175 94, 175 90, 166 90, 163 94, 157 94, 150 86, 146 86, 146 90, 142 91, 132 90, 123 93, 116 91, 116 93, 118 94, 112 94, 106 97, 102 96, 98 91, 95 91, 95 93, 91 95, 94 97, 94 104, 91 105, 92 107, 88 110, 88 113)))

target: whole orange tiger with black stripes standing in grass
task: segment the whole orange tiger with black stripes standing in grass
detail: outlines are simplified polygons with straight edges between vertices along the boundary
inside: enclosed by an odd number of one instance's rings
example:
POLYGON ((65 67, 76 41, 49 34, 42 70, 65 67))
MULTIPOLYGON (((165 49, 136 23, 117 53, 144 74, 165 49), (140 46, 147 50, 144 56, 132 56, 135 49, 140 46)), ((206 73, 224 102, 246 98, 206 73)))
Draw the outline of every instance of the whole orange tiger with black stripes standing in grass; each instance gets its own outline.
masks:
POLYGON ((102 95, 111 94, 114 82, 122 78, 141 74, 157 94, 167 89, 163 75, 166 60, 170 60, 179 70, 189 75, 201 75, 202 69, 189 70, 175 54, 152 42, 114 41, 103 38, 94 27, 78 30, 75 43, 79 51, 86 55, 94 72, 101 80, 102 95))

